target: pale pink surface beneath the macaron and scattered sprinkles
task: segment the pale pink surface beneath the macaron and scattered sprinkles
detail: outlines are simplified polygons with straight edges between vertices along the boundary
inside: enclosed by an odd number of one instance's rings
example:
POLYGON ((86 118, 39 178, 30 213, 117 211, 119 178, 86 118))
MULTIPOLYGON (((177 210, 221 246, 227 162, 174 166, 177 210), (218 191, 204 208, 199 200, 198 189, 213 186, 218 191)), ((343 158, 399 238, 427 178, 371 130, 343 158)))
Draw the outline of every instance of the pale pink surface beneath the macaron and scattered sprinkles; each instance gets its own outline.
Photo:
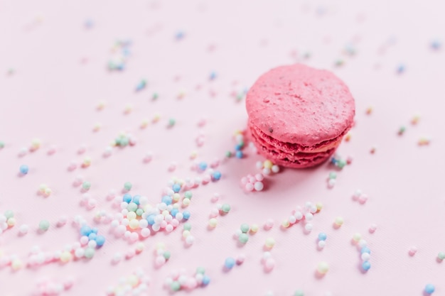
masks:
POLYGON ((190 248, 183 246, 180 226, 145 239, 146 250, 139 256, 111 265, 114 253, 133 246, 114 239, 109 225, 101 224, 107 243, 91 261, 15 273, 2 268, 0 295, 32 295, 37 280, 60 282, 68 276, 75 284, 62 295, 103 295, 139 266, 151 277, 150 295, 165 295, 163 281, 171 270, 186 268, 191 275, 200 265, 212 282, 193 295, 264 295, 272 290, 284 296, 298 288, 308 296, 422 295, 427 283, 436 285, 434 295, 445 295, 445 263, 436 261, 437 253, 445 251, 445 53, 429 45, 445 37, 444 9, 439 0, 0 1, 0 70, 5 73, 0 75, 0 141, 6 143, 0 150, 0 212, 12 209, 17 219, 14 228, 0 235, 0 249, 23 261, 34 245, 55 252, 78 241, 70 223, 54 226, 60 215, 72 221, 80 214, 94 224, 96 210, 115 212, 105 200, 111 188, 120 190, 130 181, 132 194, 158 202, 170 177, 195 177, 189 158, 193 150, 198 160, 224 158, 234 145, 232 134, 247 121, 244 102, 230 93, 250 87, 271 67, 303 61, 333 70, 350 87, 357 108, 351 141, 338 150, 343 158, 353 156, 353 164, 338 172, 333 189, 326 186, 333 170, 326 163, 311 170, 283 170, 268 178, 264 192, 247 194, 240 178, 257 172, 255 162, 261 158, 254 153, 232 158, 220 165, 222 180, 193 191, 189 210, 196 241, 190 248), (83 26, 87 18, 95 23, 89 30, 83 26), (178 31, 186 34, 183 40, 175 39, 178 31), (119 38, 133 41, 132 57, 123 72, 108 72, 109 49, 119 38), (353 57, 342 53, 348 43, 357 49, 353 57), (209 51, 210 45, 215 50, 209 51), (304 60, 306 51, 311 57, 304 60), (345 64, 334 67, 339 58, 345 64), (397 75, 401 64, 406 71, 397 75), (14 75, 6 75, 9 68, 14 75), (210 82, 213 70, 218 77, 210 82), (148 87, 135 93, 141 78, 148 87), (179 100, 181 91, 186 95, 179 100), (159 92, 156 102, 151 101, 153 92, 159 92), (107 106, 97 111, 102 100, 107 106), (129 103, 134 111, 125 115, 129 103), (374 107, 371 115, 365 114, 368 106, 374 107), (156 113, 161 114, 158 124, 139 128, 142 119, 156 113), (412 126, 415 114, 421 119, 412 126), (176 126, 168 129, 171 117, 176 126), (208 122, 198 128, 201 118, 208 122), (93 132, 97 122, 102 128, 93 132), (402 125, 407 131, 397 136, 402 125), (114 148, 103 158, 104 148, 120 131, 136 136, 136 146, 114 148), (200 132, 205 144, 198 148, 200 132), (431 137, 429 146, 417 145, 422 136, 431 137), (19 150, 33 138, 42 139, 41 149, 19 158, 19 150), (82 144, 87 151, 77 155, 82 144), (47 154, 50 146, 57 148, 54 155, 47 154), (143 163, 148 150, 153 160, 143 163), (84 156, 92 158, 90 168, 67 170, 71 160, 80 163, 84 156), (178 168, 168 172, 172 161, 178 168), (24 177, 17 175, 21 164, 30 168, 24 177), (99 201, 92 211, 79 205, 80 189, 72 185, 77 175, 92 182, 90 194, 99 201), (53 190, 50 197, 36 194, 41 183, 53 190), (370 196, 366 204, 351 199, 357 189, 370 196), (232 211, 209 231, 214 192, 232 211), (312 233, 304 234, 301 224, 280 229, 280 221, 306 201, 324 204, 312 233), (332 227, 336 216, 345 219, 337 230, 332 227), (272 230, 260 229, 246 246, 237 246, 232 234, 241 223, 262 225, 268 218, 276 221, 272 230), (51 222, 45 234, 36 233, 41 219, 51 222), (374 234, 368 232, 372 223, 378 226, 374 234), (21 224, 31 226, 23 237, 18 236, 21 224), (320 231, 328 234, 323 251, 316 250, 320 231), (372 268, 365 274, 350 243, 355 232, 372 250, 372 268), (260 259, 268 236, 277 241, 272 250, 277 265, 264 273, 260 259), (157 242, 166 243, 172 254, 159 269, 153 267, 157 242), (413 257, 410 246, 419 250, 413 257), (247 256, 245 263, 224 273, 225 258, 240 253, 247 256), (319 261, 331 266, 322 279, 314 275, 319 261))

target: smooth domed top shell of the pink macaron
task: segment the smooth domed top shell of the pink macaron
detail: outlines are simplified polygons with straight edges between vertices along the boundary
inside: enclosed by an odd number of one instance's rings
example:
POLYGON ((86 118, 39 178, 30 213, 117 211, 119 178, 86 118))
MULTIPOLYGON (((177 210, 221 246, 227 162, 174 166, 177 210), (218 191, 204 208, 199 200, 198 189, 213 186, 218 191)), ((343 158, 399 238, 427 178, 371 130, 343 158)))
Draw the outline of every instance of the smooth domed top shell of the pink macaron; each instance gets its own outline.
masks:
POLYGON ((250 124, 277 141, 316 146, 353 124, 355 103, 336 75, 306 65, 264 73, 247 92, 250 124))

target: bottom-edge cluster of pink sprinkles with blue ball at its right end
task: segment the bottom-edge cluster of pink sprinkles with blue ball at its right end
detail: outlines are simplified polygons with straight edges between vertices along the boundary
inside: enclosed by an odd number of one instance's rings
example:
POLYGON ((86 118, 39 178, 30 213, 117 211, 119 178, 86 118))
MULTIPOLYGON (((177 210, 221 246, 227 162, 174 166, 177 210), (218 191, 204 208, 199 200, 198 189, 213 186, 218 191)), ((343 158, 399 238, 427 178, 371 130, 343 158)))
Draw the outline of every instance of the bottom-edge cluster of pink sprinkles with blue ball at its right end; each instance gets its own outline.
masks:
POLYGON ((210 283, 210 277, 205 274, 205 268, 196 268, 195 274, 186 275, 186 270, 172 270, 170 276, 164 280, 164 287, 172 292, 179 290, 194 290, 197 287, 205 287, 210 283))

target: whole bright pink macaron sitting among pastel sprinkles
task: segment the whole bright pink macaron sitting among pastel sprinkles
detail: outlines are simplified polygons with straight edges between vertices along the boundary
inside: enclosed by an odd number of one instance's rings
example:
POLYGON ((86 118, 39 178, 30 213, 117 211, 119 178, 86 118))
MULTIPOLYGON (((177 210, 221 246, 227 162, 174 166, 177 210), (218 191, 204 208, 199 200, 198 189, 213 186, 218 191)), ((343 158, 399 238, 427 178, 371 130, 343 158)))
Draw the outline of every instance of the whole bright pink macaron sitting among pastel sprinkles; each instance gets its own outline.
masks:
POLYGON ((248 132, 278 165, 309 168, 328 160, 353 125, 355 102, 336 75, 306 65, 276 67, 247 92, 248 132))

